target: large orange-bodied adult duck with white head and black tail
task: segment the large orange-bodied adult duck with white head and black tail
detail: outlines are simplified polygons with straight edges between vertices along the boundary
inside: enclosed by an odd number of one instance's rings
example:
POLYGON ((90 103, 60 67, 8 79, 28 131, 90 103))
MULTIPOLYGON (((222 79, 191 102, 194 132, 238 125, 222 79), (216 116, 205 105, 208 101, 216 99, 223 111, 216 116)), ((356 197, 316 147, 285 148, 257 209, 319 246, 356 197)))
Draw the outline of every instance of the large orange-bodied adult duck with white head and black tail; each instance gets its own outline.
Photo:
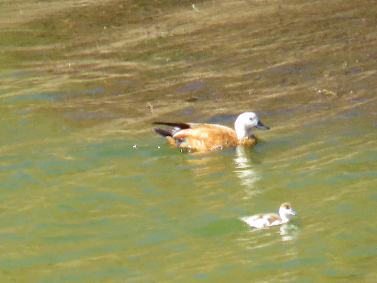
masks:
POLYGON ((217 124, 154 122, 153 125, 173 127, 153 128, 156 133, 166 137, 170 144, 199 151, 219 150, 237 145, 251 146, 256 142, 256 137, 251 133, 254 128, 269 129, 253 112, 240 114, 234 122, 235 130, 217 124))

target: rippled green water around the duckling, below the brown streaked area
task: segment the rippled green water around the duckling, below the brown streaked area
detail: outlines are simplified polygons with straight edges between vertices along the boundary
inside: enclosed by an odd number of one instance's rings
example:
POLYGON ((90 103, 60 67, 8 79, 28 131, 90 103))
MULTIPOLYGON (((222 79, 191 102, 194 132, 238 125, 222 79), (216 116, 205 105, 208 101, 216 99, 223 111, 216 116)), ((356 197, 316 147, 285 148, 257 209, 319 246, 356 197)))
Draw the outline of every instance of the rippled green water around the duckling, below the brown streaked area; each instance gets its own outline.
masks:
MULTIPOLYGON (((2 280, 372 282, 375 107, 207 155, 151 131, 78 142, 59 114, 5 110, 2 280), (238 220, 285 201, 284 228, 238 220)), ((259 116, 272 129, 321 108, 259 116)))

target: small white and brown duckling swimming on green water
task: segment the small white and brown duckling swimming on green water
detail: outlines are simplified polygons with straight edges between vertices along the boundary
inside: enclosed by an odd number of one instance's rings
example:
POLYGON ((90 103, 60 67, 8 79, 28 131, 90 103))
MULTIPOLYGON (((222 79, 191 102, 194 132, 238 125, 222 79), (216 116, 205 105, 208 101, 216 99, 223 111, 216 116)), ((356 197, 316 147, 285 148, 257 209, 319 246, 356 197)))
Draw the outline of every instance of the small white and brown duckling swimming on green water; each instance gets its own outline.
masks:
POLYGON ((250 227, 263 228, 287 223, 290 215, 297 215, 297 212, 293 210, 289 203, 283 203, 280 205, 279 215, 273 213, 256 214, 241 217, 240 220, 246 222, 250 227))

